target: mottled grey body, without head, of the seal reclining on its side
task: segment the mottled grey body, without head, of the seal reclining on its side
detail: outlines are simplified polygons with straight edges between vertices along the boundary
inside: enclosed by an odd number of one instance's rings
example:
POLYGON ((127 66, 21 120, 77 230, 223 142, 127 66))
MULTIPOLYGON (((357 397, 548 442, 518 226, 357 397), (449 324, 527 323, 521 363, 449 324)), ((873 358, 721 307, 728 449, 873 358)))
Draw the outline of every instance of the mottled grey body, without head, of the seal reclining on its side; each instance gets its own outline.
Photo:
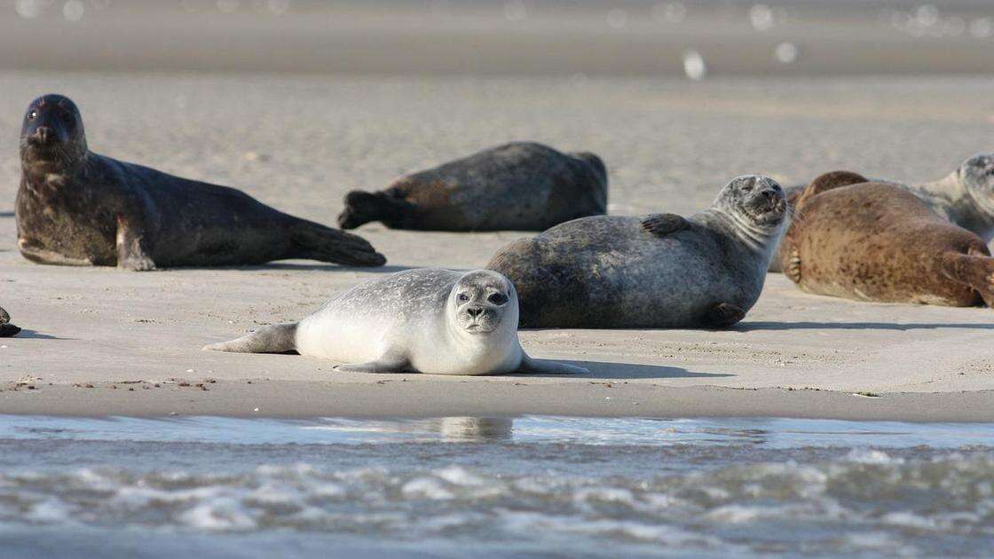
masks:
POLYGON ((715 304, 759 295, 726 245, 701 227, 660 239, 639 218, 595 217, 514 243, 487 268, 514 282, 523 326, 694 327, 715 304))

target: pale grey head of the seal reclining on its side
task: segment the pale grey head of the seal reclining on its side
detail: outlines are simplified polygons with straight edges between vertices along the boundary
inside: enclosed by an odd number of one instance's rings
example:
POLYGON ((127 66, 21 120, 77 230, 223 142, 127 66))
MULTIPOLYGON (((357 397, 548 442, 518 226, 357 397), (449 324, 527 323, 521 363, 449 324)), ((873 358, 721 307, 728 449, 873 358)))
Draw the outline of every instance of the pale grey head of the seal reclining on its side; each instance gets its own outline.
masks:
POLYGON ((787 213, 783 188, 775 180, 761 175, 743 175, 732 179, 718 195, 715 205, 744 217, 747 225, 777 229, 787 213))

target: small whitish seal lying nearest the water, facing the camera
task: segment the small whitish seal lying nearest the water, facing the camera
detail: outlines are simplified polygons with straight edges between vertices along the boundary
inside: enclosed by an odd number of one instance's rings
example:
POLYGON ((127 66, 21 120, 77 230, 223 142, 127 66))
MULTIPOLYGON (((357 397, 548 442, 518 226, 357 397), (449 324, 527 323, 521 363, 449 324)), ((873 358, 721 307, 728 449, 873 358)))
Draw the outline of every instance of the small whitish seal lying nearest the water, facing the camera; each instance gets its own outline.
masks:
POLYGON ((348 363, 341 371, 436 375, 582 373, 529 357, 518 341, 518 295, 503 276, 419 269, 343 291, 297 323, 261 328, 211 351, 280 353, 348 363))

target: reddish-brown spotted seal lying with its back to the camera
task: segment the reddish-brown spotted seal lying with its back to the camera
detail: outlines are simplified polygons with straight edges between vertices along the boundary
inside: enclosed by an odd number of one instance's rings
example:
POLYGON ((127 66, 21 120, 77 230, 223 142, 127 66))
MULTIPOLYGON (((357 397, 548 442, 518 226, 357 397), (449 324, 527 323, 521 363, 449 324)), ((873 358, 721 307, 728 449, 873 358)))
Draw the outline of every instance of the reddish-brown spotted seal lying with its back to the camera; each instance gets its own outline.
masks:
POLYGON ((994 304, 982 239, 908 190, 836 171, 797 198, 781 242, 784 274, 812 293, 885 302, 994 304))

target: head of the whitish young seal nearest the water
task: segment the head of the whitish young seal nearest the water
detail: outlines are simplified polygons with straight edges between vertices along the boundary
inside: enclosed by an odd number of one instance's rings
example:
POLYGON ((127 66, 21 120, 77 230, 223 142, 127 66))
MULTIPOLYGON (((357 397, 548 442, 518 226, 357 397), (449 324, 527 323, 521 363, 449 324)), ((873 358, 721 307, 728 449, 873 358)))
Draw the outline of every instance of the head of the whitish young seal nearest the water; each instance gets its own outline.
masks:
POLYGON ((518 327, 518 293, 510 280, 496 272, 477 270, 452 286, 449 305, 460 330, 488 334, 501 324, 518 327))

